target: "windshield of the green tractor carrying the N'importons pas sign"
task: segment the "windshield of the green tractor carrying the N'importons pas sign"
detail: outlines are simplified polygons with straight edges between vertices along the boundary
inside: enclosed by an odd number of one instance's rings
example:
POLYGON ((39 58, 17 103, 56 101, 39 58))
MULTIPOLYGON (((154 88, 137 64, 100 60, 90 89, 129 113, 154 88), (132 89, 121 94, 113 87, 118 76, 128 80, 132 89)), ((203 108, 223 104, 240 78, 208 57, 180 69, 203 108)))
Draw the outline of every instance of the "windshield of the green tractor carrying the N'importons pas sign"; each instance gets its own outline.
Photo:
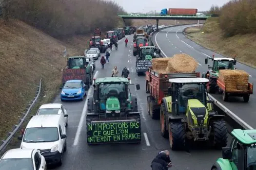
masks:
POLYGON ((106 104, 110 97, 118 98, 121 106, 126 102, 125 84, 100 84, 98 90, 100 103, 106 104))

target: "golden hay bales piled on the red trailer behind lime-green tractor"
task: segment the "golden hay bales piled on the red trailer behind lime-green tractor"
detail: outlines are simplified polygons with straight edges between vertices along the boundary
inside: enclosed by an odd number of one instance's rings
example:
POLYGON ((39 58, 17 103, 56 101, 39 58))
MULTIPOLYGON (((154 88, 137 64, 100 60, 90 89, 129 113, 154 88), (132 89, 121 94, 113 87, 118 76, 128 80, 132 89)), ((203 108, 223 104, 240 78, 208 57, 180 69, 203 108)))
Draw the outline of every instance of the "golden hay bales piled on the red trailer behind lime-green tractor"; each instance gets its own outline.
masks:
POLYGON ((161 74, 191 73, 197 69, 197 61, 188 54, 175 54, 170 58, 152 59, 152 68, 161 74))

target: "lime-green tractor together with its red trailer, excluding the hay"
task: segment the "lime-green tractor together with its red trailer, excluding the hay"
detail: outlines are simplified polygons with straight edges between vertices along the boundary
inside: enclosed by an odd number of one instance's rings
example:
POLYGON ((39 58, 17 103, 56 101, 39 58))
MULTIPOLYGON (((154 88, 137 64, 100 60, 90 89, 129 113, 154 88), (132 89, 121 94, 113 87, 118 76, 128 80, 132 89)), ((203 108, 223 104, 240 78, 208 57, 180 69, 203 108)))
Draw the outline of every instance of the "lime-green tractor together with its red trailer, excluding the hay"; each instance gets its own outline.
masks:
POLYGON ((184 150, 185 141, 208 141, 217 149, 227 145, 225 116, 214 111, 208 82, 199 72, 146 72, 148 112, 153 119, 160 118, 161 135, 169 138, 172 150, 184 150))

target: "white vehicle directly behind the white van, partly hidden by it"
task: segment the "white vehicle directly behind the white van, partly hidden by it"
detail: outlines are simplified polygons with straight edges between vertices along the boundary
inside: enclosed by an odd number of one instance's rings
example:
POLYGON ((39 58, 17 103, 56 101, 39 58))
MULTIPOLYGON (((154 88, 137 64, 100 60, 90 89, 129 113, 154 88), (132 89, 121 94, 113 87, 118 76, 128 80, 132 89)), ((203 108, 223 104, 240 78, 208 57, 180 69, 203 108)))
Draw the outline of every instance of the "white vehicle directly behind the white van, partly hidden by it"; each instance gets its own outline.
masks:
POLYGON ((61 103, 48 103, 39 107, 36 115, 61 115, 64 118, 65 126, 68 125, 68 113, 61 103))

